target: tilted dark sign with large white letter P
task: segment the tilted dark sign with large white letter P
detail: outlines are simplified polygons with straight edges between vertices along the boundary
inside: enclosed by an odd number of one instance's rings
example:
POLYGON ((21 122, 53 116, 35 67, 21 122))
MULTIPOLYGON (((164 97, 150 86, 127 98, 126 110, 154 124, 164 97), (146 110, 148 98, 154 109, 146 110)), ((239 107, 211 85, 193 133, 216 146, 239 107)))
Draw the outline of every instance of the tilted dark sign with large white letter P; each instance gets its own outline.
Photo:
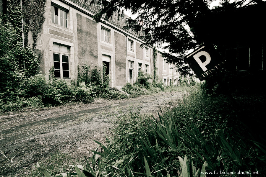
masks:
POLYGON ((187 55, 186 60, 200 81, 221 69, 225 63, 214 50, 205 46, 187 55))

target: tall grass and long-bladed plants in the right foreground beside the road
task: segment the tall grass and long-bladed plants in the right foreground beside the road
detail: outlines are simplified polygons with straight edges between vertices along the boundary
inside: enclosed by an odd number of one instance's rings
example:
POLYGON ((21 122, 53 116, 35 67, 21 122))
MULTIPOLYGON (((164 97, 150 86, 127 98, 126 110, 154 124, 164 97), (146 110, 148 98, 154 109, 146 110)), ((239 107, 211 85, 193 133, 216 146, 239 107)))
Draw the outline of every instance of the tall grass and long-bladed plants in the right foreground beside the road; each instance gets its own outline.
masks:
POLYGON ((81 167, 84 175, 202 177, 204 171, 265 174, 263 141, 242 135, 245 127, 232 119, 239 116, 233 100, 208 96, 195 86, 173 102, 176 106, 163 110, 158 118, 142 117, 139 112, 121 116, 112 137, 106 137, 106 146, 95 141, 99 148, 91 158, 85 158, 86 165, 81 167))

